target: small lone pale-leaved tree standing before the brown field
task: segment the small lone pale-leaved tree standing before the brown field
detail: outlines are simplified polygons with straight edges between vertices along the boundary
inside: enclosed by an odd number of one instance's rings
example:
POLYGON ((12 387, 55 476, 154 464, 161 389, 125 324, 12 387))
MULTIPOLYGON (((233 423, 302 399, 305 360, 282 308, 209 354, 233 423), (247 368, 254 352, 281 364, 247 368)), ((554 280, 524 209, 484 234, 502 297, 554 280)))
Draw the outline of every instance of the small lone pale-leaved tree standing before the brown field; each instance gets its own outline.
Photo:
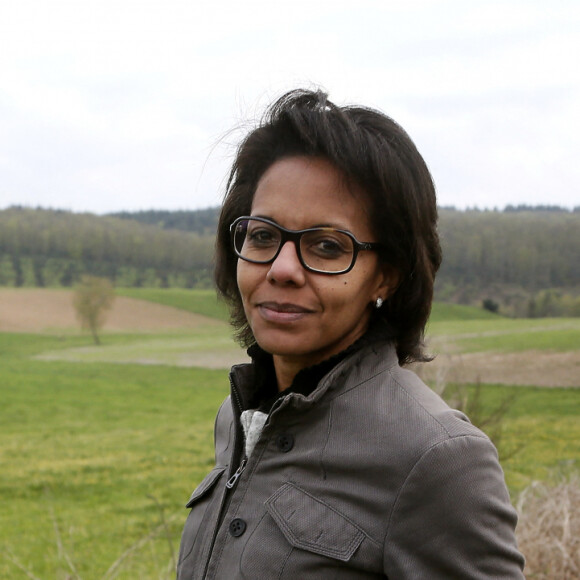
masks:
POLYGON ((115 300, 113 284, 107 278, 83 276, 74 293, 74 307, 81 326, 88 328, 95 344, 101 344, 98 331, 105 322, 105 312, 115 300))

